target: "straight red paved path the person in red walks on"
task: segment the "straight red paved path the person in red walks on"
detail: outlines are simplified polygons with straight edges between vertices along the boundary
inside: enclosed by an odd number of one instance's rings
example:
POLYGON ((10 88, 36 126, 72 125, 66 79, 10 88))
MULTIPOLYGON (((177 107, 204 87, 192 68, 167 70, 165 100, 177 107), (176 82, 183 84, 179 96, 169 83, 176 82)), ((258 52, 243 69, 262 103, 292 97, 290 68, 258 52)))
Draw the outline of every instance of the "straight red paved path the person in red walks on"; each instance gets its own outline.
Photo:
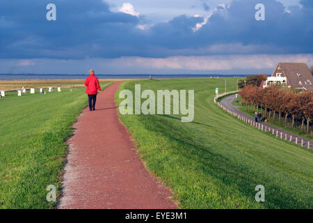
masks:
POLYGON ((114 97, 119 85, 99 93, 97 110, 84 109, 74 124, 58 208, 177 208, 118 121, 114 97))

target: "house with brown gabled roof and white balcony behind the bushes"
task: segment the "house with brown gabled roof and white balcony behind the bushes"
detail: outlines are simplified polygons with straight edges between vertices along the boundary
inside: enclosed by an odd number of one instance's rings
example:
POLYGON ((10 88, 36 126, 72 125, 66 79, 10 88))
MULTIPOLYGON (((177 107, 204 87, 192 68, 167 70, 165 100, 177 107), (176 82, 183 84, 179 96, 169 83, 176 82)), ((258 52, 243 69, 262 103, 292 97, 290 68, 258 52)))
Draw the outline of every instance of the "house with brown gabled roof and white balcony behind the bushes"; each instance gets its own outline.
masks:
POLYGON ((263 88, 271 85, 313 90, 313 76, 306 63, 278 63, 271 77, 262 82, 263 88))

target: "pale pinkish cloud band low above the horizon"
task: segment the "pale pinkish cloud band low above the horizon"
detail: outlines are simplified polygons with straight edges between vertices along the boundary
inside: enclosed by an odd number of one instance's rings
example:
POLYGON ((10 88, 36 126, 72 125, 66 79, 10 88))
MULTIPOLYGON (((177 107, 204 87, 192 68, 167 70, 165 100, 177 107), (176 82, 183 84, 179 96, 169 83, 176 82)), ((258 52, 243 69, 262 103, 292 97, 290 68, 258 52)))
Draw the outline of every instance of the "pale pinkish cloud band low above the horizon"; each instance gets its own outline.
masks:
POLYGON ((257 74, 273 72, 276 64, 285 62, 305 62, 313 64, 313 54, 230 54, 215 56, 170 56, 148 58, 122 56, 117 59, 2 59, 0 68, 7 73, 37 72, 56 74, 81 74, 93 68, 97 74, 209 74, 225 75, 257 74), (49 68, 49 71, 47 71, 49 68))

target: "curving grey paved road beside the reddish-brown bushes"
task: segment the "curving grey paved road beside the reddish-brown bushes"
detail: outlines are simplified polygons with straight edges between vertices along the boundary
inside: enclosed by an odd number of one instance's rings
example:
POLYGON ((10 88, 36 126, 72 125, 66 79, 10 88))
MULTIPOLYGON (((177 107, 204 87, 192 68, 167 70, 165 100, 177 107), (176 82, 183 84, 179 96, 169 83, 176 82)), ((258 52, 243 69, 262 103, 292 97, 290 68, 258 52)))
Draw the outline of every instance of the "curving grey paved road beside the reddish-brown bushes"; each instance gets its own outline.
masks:
MULTIPOLYGON (((253 118, 252 116, 249 116, 248 114, 244 113, 244 112, 241 112, 241 110, 238 109, 238 107, 232 105, 232 102, 234 101, 235 99, 235 95, 230 95, 229 97, 226 97, 224 98, 223 100, 220 101, 220 104, 223 105, 226 109, 229 109, 230 111, 232 112, 236 112, 237 114, 240 114, 241 116, 245 117, 245 118, 248 118, 250 119, 251 121, 255 121, 255 118, 253 118)), ((299 137, 298 135, 296 134, 293 134, 291 132, 287 132, 285 130, 282 130, 280 128, 277 128, 273 125, 270 125, 270 124, 267 124, 267 123, 262 123, 263 125, 266 126, 266 128, 271 128, 271 131, 274 129, 274 132, 276 134, 276 132, 278 131, 279 132, 279 137, 280 137, 280 132, 282 132, 282 138, 284 139, 285 138, 285 134, 287 134, 287 139, 289 140, 290 139, 290 136, 291 137, 291 141, 296 143, 296 137, 298 137, 298 145, 301 144, 301 139, 303 139, 303 146, 307 148, 307 141, 310 141, 310 148, 313 149, 313 141, 312 140, 309 140, 309 139, 305 139, 303 137, 299 137)), ((264 128, 265 128, 264 126, 264 128)))

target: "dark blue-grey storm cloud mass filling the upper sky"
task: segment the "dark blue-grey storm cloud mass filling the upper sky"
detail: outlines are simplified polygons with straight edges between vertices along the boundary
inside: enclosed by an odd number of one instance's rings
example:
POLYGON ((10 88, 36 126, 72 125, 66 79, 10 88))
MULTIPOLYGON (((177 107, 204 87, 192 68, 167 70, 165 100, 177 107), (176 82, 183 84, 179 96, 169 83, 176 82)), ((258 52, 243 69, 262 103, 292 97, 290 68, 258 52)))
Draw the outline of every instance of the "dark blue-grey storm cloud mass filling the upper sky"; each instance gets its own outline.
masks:
POLYGON ((235 0, 218 7, 206 24, 204 17, 181 15, 141 30, 145 17, 112 12, 102 0, 1 1, 0 58, 234 54, 227 45, 242 45, 249 54, 312 53, 312 1, 300 3, 303 8, 287 13, 274 0, 235 0), (45 19, 47 3, 56 4, 57 21, 45 19), (266 21, 255 20, 257 3, 264 3, 266 21), (212 52, 216 45, 226 47, 212 52))

